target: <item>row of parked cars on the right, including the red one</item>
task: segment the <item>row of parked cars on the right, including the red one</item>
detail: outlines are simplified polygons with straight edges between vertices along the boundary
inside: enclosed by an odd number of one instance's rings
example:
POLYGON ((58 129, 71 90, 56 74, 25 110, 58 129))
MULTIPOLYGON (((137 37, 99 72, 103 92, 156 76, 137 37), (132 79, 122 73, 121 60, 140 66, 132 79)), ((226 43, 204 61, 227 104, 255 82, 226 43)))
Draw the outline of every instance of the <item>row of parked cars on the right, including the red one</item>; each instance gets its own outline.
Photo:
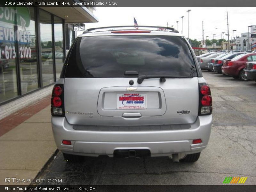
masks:
POLYGON ((202 70, 256 81, 256 52, 210 52, 196 58, 202 70))

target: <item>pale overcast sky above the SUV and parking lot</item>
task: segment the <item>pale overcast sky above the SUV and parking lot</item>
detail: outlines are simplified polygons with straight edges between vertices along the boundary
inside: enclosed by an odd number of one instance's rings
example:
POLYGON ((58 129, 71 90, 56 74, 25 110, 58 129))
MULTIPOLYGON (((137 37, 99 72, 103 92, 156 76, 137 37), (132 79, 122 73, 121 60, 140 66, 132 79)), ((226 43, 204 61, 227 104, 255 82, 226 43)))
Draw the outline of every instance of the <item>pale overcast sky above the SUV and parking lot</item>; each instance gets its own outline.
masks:
MULTIPOLYGON (((204 21, 204 39, 221 38, 221 32, 228 33, 227 11, 230 39, 232 30, 234 36, 247 32, 249 25, 256 25, 255 7, 97 7, 93 14, 99 19, 98 23, 86 23, 85 28, 105 27, 114 25, 133 25, 133 17, 139 25, 168 26, 181 32, 181 16, 183 18, 183 34, 189 38, 202 40, 202 21, 204 21), (216 29, 217 28, 217 29, 216 29)), ((77 32, 77 35, 80 34, 77 32)), ((224 35, 223 38, 226 38, 224 35)))

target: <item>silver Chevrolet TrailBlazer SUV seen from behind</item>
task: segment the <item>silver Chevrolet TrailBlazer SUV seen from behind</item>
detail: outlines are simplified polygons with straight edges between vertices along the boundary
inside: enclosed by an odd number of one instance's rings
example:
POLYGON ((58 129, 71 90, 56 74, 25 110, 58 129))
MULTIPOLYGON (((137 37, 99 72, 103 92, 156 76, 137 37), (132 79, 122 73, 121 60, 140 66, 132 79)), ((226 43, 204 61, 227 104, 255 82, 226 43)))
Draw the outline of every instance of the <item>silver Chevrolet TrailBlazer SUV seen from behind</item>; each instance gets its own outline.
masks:
POLYGON ((173 28, 139 28, 88 29, 69 50, 51 100, 54 139, 69 162, 195 162, 206 148, 212 97, 191 46, 173 28))

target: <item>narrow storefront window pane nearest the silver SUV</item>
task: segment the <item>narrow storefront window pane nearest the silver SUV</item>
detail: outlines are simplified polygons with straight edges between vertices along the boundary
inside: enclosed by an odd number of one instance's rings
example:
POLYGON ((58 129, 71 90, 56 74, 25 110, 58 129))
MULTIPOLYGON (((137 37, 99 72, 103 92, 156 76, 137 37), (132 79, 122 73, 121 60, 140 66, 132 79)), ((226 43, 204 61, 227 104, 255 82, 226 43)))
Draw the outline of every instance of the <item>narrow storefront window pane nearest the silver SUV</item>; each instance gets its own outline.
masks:
POLYGON ((62 19, 54 16, 54 44, 55 44, 55 67, 56 80, 60 78, 60 72, 64 63, 63 54, 63 24, 62 19))

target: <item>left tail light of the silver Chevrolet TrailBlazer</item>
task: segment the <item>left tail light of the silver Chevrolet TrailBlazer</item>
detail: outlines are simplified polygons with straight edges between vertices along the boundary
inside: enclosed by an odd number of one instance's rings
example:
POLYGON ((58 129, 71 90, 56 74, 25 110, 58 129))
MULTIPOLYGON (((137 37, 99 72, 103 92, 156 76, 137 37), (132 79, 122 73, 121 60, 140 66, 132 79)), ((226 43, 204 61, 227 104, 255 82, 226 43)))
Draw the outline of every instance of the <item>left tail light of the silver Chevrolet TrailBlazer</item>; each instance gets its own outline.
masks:
POLYGON ((56 84, 52 89, 51 113, 52 116, 64 116, 63 84, 56 84))

